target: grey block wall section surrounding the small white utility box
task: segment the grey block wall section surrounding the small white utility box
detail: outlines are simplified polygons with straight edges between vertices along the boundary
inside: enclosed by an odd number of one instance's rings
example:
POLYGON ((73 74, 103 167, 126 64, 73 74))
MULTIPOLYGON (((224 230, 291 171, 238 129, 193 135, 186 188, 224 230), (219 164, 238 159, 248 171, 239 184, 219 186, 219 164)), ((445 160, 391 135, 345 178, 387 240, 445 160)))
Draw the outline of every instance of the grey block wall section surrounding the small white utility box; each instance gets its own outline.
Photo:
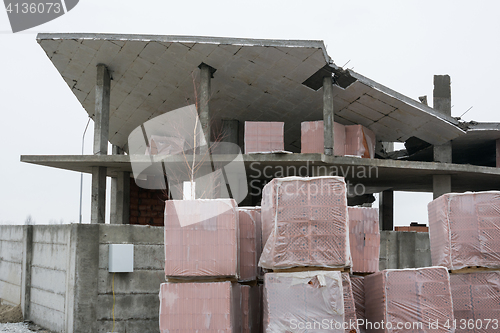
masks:
POLYGON ((165 282, 163 227, 101 225, 97 283, 97 332, 159 332, 158 293, 165 282), (109 244, 134 244, 134 272, 109 273, 109 244))

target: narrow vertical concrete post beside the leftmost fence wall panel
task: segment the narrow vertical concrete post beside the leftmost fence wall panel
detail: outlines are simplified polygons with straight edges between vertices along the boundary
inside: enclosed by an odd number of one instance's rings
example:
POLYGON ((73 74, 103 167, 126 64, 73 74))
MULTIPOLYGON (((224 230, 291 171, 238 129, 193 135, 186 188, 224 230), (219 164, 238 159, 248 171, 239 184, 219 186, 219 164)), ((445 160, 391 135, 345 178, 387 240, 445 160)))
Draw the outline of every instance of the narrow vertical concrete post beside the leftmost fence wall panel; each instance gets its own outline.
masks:
POLYGON ((33 226, 23 227, 23 266, 21 277, 21 308, 24 320, 30 319, 31 263, 33 260, 33 226))

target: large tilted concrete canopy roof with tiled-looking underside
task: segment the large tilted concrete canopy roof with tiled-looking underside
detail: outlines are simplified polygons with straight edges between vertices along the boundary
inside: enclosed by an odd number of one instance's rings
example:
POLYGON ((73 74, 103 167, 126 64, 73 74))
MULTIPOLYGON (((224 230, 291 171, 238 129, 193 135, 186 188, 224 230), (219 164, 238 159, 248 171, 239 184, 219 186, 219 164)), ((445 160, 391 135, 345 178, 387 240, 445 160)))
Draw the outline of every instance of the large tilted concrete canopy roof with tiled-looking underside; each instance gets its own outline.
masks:
POLYGON ((90 116, 96 65, 111 76, 110 142, 165 112, 196 103, 198 66, 212 80, 214 118, 284 121, 285 148, 300 147, 300 123, 323 118, 318 71, 335 75, 335 117, 383 141, 416 136, 432 144, 464 132, 458 122, 353 71, 337 67, 321 41, 108 34, 39 34, 38 42, 90 116))

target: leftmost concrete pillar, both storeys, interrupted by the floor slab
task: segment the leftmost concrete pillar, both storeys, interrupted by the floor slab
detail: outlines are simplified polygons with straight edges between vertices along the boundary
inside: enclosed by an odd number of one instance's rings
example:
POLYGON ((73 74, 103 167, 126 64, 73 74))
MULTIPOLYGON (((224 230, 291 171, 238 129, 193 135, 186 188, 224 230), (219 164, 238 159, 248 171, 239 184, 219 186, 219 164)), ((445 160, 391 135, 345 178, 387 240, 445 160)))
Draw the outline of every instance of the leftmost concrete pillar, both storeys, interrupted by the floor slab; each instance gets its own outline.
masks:
MULTIPOLYGON (((108 154, 110 77, 103 64, 97 65, 94 114, 94 155, 108 154)), ((105 167, 92 167, 91 223, 105 223, 105 167)))

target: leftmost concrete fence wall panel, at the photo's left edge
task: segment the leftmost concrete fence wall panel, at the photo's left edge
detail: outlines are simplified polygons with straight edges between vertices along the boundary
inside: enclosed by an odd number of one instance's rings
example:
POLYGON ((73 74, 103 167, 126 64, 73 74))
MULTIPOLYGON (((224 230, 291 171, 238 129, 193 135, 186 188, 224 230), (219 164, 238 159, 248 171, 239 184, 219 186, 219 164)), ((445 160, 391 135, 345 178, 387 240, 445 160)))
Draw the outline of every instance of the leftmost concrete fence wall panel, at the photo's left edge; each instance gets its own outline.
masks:
POLYGON ((4 304, 21 304, 23 238, 25 226, 0 226, 0 298, 4 304))

